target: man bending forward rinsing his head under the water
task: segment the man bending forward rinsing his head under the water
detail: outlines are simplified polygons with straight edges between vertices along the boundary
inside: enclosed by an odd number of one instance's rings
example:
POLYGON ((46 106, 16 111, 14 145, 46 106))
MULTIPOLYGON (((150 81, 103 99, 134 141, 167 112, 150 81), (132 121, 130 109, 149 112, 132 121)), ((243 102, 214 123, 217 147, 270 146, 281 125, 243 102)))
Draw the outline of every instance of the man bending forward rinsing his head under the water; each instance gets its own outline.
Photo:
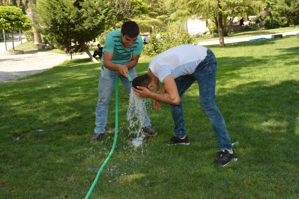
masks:
POLYGON ((215 102, 217 61, 213 52, 198 45, 179 45, 155 56, 149 62, 147 74, 135 78, 133 89, 138 97, 154 99, 154 108, 161 110, 160 102, 170 104, 175 128, 174 136, 164 141, 168 145, 189 145, 185 127, 184 92, 197 81, 199 102, 215 130, 219 155, 213 163, 225 166, 237 160, 232 150, 230 136, 215 102), (163 83, 160 93, 159 81, 163 83))

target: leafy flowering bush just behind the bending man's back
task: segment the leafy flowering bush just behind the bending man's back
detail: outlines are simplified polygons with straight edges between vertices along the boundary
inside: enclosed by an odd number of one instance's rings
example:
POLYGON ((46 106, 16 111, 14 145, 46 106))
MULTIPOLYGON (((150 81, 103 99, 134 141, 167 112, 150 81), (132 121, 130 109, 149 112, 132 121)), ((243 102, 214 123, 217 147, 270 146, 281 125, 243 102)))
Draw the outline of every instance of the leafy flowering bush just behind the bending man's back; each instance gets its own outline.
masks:
POLYGON ((176 29, 161 31, 160 29, 153 30, 150 35, 149 43, 143 45, 143 55, 156 56, 163 51, 173 48, 181 44, 194 44, 195 39, 182 26, 177 26, 176 29))

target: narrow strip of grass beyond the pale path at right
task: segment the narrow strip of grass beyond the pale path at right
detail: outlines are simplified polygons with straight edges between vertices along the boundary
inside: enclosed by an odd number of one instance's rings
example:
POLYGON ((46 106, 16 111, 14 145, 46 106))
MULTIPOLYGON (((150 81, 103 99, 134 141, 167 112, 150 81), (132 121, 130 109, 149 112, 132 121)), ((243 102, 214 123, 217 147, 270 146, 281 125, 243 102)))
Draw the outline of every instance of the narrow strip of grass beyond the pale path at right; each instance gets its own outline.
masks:
MULTIPOLYGON (((275 29, 259 29, 259 30, 248 30, 248 31, 241 31, 236 33, 228 33, 228 36, 224 38, 231 38, 231 37, 246 37, 251 35, 259 35, 259 34, 267 34, 267 33, 274 33, 279 31, 291 31, 299 29, 298 26, 295 27, 286 27, 286 28, 275 28, 275 29)), ((203 40, 214 40, 219 38, 211 38, 210 35, 205 35, 204 37, 196 38, 196 41, 203 41, 203 40)))

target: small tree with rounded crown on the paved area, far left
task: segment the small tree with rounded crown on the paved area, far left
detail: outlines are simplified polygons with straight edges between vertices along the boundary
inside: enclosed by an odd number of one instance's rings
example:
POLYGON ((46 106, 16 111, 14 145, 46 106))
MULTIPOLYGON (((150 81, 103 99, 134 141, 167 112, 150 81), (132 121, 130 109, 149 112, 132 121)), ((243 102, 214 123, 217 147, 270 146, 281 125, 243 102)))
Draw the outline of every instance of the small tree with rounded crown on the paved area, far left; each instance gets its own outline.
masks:
MULTIPOLYGON (((13 30, 29 30, 32 22, 20 8, 15 6, 0 6, 0 29, 11 31, 13 40, 13 30)), ((13 43, 13 51, 15 46, 13 43)))

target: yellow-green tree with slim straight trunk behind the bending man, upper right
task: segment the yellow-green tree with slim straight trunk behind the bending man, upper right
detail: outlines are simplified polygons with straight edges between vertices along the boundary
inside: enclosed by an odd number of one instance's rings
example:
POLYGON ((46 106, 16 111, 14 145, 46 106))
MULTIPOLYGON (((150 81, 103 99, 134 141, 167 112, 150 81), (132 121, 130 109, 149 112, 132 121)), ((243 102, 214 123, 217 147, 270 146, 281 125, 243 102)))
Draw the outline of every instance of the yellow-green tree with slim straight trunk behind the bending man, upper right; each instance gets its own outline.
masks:
POLYGON ((248 8, 261 9, 264 3, 260 0, 170 0, 170 8, 175 9, 170 15, 172 19, 184 15, 187 17, 197 17, 202 19, 212 19, 219 33, 219 44, 224 47, 224 35, 228 28, 228 17, 236 17, 240 13, 244 14, 248 8))

